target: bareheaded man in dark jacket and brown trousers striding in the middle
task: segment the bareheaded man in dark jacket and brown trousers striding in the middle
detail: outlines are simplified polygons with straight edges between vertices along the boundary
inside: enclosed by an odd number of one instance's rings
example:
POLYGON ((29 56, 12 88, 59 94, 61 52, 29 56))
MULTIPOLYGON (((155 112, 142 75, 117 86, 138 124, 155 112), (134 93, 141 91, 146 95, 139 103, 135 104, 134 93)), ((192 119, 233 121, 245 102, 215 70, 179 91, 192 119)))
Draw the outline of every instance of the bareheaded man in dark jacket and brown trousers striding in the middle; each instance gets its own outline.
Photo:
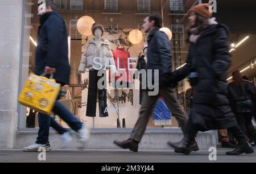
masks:
MULTIPOLYGON (((150 96, 150 93, 144 91, 142 96, 142 106, 139 111, 139 118, 130 138, 122 142, 114 141, 119 147, 129 148, 129 150, 137 152, 138 143, 141 142, 144 131, 146 130, 150 114, 154 109, 158 96, 162 96, 167 104, 168 109, 175 116, 182 131, 185 131, 187 125, 187 115, 177 101, 175 88, 172 86, 164 86, 171 73, 171 45, 167 35, 159 31, 162 19, 159 14, 150 14, 144 19, 143 29, 148 33, 148 50, 147 50, 147 65, 146 69, 152 70, 152 73, 159 71, 159 93, 155 96, 150 96)), ((154 76, 152 74, 152 76, 154 76)), ((151 78, 148 76, 147 78, 151 78)), ((157 84, 157 80, 152 78, 152 81, 157 84)))

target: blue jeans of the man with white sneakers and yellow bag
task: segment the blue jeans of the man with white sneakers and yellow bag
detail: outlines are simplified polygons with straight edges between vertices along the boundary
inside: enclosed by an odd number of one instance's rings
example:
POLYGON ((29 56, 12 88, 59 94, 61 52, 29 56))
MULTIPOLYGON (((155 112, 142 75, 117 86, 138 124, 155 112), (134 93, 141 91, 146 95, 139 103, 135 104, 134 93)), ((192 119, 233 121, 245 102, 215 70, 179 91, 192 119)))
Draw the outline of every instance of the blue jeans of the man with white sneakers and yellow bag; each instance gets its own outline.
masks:
MULTIPOLYGON (((64 122, 68 124, 71 129, 78 131, 82 127, 82 123, 68 110, 66 109, 60 102, 55 101, 55 105, 53 106, 52 111, 59 115, 64 122)), ((59 134, 63 134, 67 132, 67 129, 61 127, 52 117, 48 115, 39 113, 38 114, 38 123, 39 123, 39 131, 38 138, 36 138, 36 143, 38 144, 46 144, 49 142, 49 127, 51 126, 55 129, 59 134)))

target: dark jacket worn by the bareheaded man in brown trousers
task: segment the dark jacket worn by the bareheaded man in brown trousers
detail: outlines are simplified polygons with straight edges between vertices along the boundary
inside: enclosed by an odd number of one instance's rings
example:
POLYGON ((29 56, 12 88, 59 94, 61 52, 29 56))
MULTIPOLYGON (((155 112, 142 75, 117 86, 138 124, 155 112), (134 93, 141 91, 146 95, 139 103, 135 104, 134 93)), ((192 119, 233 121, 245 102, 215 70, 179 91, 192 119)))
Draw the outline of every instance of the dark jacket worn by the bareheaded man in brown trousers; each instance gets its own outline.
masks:
MULTIPOLYGON (((159 31, 159 28, 154 28, 148 35, 146 69, 152 69, 152 72, 159 70, 159 86, 162 86, 170 77, 171 58, 171 44, 167 35, 159 31)), ((152 81, 154 82, 154 78, 152 81)))

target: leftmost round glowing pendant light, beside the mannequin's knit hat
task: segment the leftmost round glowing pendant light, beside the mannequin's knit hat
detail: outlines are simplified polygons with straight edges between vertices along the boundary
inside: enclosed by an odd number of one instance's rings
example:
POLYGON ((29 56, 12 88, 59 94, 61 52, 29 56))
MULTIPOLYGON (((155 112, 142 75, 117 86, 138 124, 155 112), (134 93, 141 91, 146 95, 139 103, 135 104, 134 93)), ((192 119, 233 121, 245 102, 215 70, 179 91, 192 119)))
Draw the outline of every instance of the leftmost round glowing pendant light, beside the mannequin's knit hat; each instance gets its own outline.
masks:
POLYGON ((95 23, 92 17, 82 16, 77 21, 77 30, 81 35, 90 36, 92 35, 92 26, 95 23))

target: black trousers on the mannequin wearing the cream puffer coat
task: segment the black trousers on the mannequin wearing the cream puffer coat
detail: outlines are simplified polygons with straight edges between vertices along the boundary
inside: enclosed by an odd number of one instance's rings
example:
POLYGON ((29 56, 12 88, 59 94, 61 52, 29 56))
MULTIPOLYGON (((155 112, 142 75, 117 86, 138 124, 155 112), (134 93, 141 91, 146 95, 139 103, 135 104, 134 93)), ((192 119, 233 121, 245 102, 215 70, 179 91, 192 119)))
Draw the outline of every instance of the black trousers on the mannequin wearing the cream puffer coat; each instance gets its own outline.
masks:
MULTIPOLYGON (((98 89, 98 81, 103 77, 97 76, 98 70, 91 69, 89 71, 89 86, 88 86, 88 98, 87 98, 87 107, 86 107, 86 116, 88 117, 96 117, 96 104, 97 104, 97 93, 98 93, 98 105, 100 111, 100 117, 108 117, 108 111, 106 108, 107 105, 107 90, 106 89, 98 89)), ((102 82, 102 85, 105 85, 102 82)))

